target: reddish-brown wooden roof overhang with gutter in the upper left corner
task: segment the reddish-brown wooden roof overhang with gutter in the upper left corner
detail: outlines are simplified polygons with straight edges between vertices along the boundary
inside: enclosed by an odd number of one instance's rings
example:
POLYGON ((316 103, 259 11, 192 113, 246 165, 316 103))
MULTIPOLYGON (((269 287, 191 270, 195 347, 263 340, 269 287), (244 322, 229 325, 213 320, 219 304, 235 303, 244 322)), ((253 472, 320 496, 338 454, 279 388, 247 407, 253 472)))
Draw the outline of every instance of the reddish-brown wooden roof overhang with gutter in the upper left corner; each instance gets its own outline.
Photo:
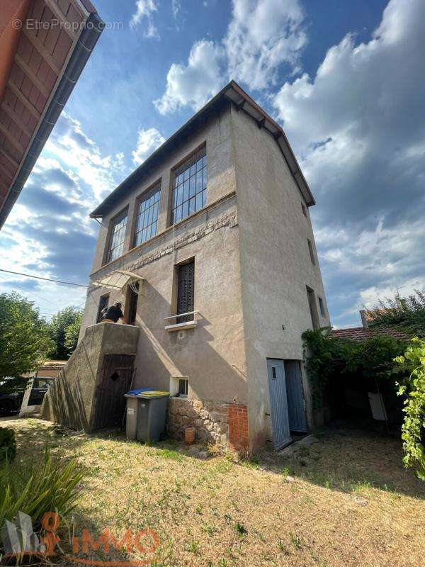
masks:
POLYGON ((102 30, 89 0, 1 0, 0 228, 102 30))

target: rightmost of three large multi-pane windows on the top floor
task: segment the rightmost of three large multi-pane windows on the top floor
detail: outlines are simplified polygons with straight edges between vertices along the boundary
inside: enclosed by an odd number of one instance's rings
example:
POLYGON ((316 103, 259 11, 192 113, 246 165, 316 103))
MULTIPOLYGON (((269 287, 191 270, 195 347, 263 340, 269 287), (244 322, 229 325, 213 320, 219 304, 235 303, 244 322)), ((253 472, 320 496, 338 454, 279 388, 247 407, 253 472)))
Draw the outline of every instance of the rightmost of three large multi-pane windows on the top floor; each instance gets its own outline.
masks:
POLYGON ((174 172, 171 224, 193 215, 207 204, 207 156, 205 146, 174 172))

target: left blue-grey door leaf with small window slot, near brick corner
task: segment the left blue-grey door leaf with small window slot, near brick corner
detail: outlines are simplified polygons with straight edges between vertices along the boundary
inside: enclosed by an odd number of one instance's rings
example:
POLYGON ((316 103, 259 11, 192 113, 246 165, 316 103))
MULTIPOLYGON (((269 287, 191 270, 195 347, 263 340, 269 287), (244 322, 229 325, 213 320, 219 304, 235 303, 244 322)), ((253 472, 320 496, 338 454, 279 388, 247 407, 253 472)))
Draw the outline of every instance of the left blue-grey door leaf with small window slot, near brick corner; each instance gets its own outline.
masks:
POLYGON ((268 359, 267 371, 273 445, 278 450, 290 443, 291 440, 283 360, 268 359))

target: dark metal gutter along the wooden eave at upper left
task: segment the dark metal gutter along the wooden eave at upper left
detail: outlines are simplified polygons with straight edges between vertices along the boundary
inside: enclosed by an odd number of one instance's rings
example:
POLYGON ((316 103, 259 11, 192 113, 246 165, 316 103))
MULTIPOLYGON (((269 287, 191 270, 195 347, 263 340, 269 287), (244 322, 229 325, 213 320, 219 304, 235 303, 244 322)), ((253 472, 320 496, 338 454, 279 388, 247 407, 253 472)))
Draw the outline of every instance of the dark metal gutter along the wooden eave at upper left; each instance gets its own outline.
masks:
POLYGON ((81 72, 86 66, 86 62, 89 60, 91 52, 103 31, 104 23, 98 16, 98 13, 91 13, 89 18, 86 20, 86 25, 84 30, 82 30, 77 45, 74 47, 71 57, 67 67, 60 79, 60 83, 57 86, 55 95, 52 101, 50 101, 47 111, 42 118, 42 121, 38 127, 37 132, 33 138, 27 155, 23 160, 19 172, 16 176, 15 181, 11 186, 8 196, 4 201, 4 205, 0 211, 0 229, 4 225, 8 214, 11 212, 13 205, 16 203, 16 199, 21 194, 23 186, 26 184, 30 172, 32 172, 35 162, 37 161, 40 153, 47 142, 47 138, 50 136, 53 127, 55 126, 57 119, 60 117, 65 104, 67 103, 69 96, 71 95, 75 84, 77 83, 81 72))

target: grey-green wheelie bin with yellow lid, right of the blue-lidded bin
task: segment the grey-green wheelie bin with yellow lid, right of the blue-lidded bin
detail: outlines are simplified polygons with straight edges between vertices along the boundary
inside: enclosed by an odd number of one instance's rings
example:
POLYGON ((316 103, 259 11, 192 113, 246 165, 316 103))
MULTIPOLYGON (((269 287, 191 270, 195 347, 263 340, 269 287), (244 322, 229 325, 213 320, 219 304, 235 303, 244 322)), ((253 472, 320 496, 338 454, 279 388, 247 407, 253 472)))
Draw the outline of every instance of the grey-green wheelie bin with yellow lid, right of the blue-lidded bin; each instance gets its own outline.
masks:
POLYGON ((137 441, 159 441, 165 432, 169 392, 151 390, 137 395, 137 441))

